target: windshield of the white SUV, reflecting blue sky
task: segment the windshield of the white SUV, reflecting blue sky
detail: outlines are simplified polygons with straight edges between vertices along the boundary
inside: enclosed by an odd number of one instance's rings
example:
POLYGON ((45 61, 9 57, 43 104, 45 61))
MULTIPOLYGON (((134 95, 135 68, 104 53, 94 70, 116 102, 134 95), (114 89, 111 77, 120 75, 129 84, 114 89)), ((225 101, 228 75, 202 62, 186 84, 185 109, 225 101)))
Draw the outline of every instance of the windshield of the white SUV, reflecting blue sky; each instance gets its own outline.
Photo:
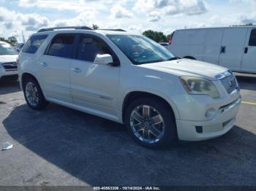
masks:
POLYGON ((133 64, 169 61, 174 56, 157 42, 139 35, 107 35, 133 64))

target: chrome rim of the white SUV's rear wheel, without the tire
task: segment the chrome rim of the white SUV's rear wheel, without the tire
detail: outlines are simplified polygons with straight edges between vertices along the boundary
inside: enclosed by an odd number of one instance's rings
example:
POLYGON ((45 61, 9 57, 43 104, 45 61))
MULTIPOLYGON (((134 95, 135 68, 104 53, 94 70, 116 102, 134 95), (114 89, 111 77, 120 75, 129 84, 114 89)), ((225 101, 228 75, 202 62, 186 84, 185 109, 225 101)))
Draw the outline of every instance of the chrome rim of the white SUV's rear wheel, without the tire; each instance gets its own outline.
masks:
POLYGON ((25 89, 26 99, 31 106, 37 106, 39 102, 39 93, 33 82, 28 82, 25 89))

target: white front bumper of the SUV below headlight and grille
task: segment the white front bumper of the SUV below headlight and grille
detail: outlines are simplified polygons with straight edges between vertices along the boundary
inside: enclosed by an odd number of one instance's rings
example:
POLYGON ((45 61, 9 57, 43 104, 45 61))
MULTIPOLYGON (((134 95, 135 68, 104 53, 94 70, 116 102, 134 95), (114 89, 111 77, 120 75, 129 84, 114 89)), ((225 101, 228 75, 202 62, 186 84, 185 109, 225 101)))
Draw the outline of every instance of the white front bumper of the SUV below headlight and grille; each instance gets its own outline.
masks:
POLYGON ((240 103, 241 98, 238 98, 236 101, 220 107, 212 120, 176 120, 178 139, 201 141, 222 136, 235 125, 240 103))

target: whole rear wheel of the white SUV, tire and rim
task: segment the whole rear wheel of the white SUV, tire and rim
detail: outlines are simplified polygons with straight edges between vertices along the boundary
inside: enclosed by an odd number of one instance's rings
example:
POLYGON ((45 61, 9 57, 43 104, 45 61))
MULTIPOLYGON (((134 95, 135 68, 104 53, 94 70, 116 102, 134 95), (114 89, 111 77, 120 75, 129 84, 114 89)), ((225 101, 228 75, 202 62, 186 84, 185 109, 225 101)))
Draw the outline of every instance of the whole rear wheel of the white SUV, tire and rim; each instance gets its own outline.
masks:
POLYGON ((36 79, 31 77, 25 79, 23 93, 26 103, 31 109, 42 110, 48 106, 48 101, 45 100, 45 96, 42 94, 41 87, 36 79))

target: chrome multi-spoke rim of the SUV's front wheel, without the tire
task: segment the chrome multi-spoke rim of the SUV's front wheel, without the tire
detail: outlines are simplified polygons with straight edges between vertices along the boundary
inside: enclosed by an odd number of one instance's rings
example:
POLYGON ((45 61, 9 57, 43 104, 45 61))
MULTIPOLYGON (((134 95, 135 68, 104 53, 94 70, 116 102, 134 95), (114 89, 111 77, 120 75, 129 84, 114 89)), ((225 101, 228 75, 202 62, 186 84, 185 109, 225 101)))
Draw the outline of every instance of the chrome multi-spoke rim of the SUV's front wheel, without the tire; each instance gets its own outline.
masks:
POLYGON ((130 125, 135 136, 145 143, 157 143, 165 133, 162 115, 152 106, 137 106, 130 116, 130 125))

